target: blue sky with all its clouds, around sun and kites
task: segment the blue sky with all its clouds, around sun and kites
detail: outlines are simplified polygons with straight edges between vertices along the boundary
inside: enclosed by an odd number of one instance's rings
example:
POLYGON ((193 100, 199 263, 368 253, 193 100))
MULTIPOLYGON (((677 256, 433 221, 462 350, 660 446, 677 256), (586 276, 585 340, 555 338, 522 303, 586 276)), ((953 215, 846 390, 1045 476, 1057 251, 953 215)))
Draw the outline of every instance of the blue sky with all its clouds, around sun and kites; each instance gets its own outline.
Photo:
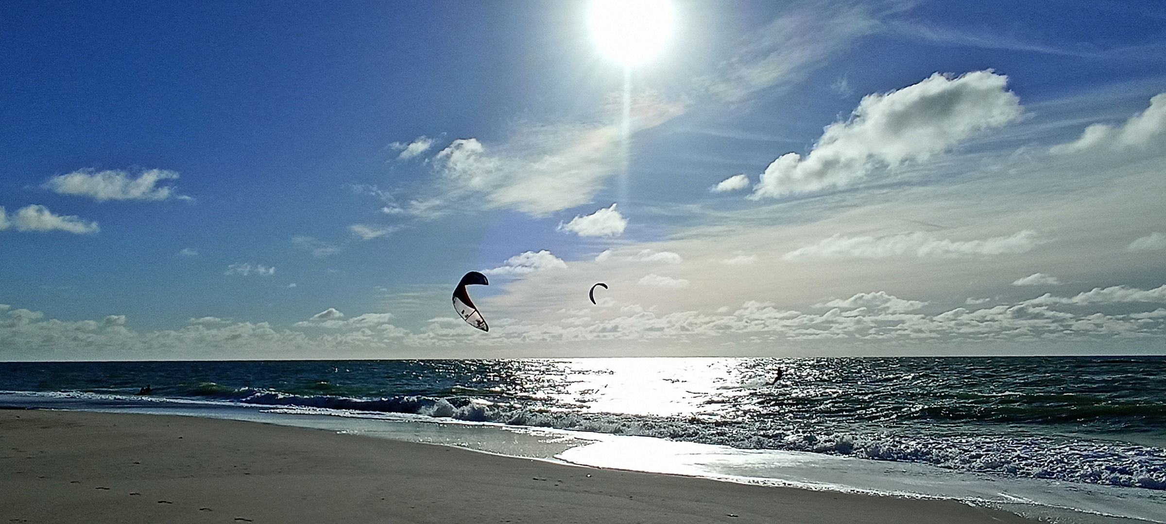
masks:
POLYGON ((7 5, 0 359, 1166 350, 1166 6, 672 5, 7 5))

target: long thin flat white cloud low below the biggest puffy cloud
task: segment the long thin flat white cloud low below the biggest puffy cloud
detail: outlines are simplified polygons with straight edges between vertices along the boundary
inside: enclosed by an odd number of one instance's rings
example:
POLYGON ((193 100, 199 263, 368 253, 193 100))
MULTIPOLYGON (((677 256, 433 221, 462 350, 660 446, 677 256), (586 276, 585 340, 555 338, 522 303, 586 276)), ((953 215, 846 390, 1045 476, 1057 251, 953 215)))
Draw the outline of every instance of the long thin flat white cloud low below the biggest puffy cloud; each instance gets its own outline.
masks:
POLYGON ((956 259, 962 256, 1026 253, 1039 242, 1037 232, 1031 229, 1024 229, 1010 236, 962 241, 937 239, 923 232, 879 238, 834 235, 816 245, 786 253, 781 259, 788 261, 805 259, 886 259, 904 255, 956 259))

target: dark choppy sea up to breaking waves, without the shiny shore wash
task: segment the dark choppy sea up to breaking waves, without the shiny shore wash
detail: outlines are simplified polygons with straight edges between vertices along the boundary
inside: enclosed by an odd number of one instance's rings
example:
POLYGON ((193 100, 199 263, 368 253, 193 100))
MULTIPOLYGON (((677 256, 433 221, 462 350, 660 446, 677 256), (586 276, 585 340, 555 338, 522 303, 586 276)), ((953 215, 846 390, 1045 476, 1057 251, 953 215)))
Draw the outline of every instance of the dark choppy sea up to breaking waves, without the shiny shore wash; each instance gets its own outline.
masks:
POLYGON ((1166 489, 1166 357, 0 363, 0 390, 146 385, 1166 489))

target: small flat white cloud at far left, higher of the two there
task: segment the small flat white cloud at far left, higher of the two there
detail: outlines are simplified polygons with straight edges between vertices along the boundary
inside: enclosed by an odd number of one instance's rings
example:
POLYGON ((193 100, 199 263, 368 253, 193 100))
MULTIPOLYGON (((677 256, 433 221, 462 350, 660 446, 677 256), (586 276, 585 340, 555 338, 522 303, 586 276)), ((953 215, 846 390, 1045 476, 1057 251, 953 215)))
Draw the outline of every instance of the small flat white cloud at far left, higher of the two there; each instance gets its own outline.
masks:
POLYGON ((98 201, 189 199, 177 194, 174 187, 157 185, 161 180, 174 178, 178 178, 178 174, 164 169, 142 171, 138 178, 131 178, 126 171, 82 169, 52 177, 44 183, 44 187, 61 194, 92 197, 98 201))

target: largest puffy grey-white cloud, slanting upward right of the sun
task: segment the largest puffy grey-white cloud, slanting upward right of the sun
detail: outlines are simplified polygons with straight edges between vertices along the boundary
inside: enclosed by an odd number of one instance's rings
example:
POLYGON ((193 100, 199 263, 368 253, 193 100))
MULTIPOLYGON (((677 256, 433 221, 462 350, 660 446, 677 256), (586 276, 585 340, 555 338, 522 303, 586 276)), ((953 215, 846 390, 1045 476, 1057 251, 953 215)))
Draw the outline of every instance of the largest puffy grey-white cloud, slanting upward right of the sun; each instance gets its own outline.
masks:
POLYGON ((1007 77, 975 71, 929 78, 863 97, 849 121, 830 125, 806 157, 773 161, 749 198, 778 198, 851 185, 876 167, 895 168, 943 153, 984 129, 1020 118, 1007 77))

